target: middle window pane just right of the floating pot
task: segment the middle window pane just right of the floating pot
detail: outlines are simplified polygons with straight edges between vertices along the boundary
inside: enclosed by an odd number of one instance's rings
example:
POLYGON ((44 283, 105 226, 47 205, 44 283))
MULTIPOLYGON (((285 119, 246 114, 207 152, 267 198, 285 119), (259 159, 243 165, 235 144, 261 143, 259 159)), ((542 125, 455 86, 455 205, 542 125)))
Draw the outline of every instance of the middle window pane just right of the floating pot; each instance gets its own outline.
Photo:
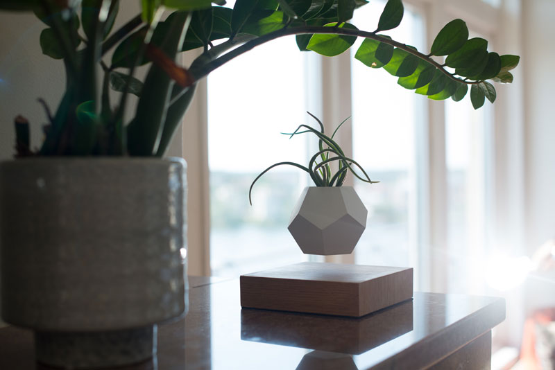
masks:
MULTIPOLYGON (((371 1, 355 12, 353 23, 373 28, 384 5, 385 1, 371 1)), ((422 49, 422 18, 407 8, 402 24, 386 35, 422 49)), ((352 60, 353 155, 370 178, 379 181, 372 185, 355 182, 368 209, 366 231, 355 249, 355 259, 366 265, 413 265, 414 130, 422 117, 418 99, 423 98, 398 86, 396 79, 384 69, 373 70, 352 60)))

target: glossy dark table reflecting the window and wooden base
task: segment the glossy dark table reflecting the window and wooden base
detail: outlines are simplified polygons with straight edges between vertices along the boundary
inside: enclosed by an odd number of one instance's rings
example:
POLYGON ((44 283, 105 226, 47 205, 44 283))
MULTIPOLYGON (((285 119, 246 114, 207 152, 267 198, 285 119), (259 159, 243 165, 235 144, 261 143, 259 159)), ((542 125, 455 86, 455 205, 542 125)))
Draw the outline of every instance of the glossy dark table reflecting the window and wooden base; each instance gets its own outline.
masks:
MULTIPOLYGON (((414 294, 359 319, 242 309, 239 279, 189 279, 185 319, 160 325, 153 361, 119 370, 490 369, 503 299, 414 294)), ((0 329, 0 369, 35 364, 30 331, 0 329)))

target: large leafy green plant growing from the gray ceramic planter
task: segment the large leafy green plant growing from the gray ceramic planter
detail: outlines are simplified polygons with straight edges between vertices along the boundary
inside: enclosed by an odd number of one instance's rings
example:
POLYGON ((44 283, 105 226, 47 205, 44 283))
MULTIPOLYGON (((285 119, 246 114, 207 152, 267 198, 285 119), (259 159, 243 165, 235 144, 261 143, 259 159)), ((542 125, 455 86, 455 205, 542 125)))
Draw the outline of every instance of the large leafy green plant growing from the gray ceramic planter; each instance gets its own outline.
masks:
POLYGON ((510 70, 519 57, 488 51, 485 39, 468 39, 463 20, 446 24, 430 51, 421 52, 384 34, 400 24, 401 0, 388 0, 378 24, 363 25, 370 30, 351 24, 353 12, 367 2, 237 0, 226 8, 224 0, 141 0, 142 13, 112 30, 121 0, 0 0, 0 10, 35 12, 46 24, 40 35, 43 53, 62 60, 66 71, 56 111, 51 114, 43 102, 48 123, 40 150, 31 150, 28 122, 16 119, 17 154, 162 156, 198 80, 255 46, 287 35, 296 35, 300 51, 327 56, 364 38, 357 60, 385 69, 405 89, 434 100, 459 101, 470 87, 475 109, 486 98, 495 100, 490 81, 512 82, 510 70), (163 10, 173 12, 162 21, 163 10), (176 63, 178 53, 198 48, 203 52, 191 65, 176 63), (144 64, 150 67, 141 81, 135 71, 144 64), (115 101, 110 89, 121 93, 115 101), (139 96, 139 102, 126 120, 129 94, 139 96))

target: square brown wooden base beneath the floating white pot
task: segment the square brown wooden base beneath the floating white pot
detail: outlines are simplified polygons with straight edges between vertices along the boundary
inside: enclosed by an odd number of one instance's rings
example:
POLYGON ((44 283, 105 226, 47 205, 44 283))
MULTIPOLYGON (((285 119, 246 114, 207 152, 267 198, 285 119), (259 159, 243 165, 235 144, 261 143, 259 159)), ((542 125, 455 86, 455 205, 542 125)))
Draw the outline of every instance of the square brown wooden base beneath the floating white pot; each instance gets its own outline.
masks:
POLYGON ((241 275, 241 306, 361 317, 412 298, 413 269, 297 263, 241 275))

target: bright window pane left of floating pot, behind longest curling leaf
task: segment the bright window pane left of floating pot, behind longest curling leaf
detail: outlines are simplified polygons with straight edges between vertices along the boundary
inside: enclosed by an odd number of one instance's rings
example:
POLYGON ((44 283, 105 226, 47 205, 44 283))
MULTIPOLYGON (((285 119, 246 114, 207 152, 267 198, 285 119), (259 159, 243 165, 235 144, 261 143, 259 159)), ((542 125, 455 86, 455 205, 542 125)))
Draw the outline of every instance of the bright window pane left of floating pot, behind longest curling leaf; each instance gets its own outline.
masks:
POLYGON ((237 276, 302 261, 287 231, 305 175, 280 161, 305 164, 305 138, 280 132, 305 122, 305 61, 294 37, 258 46, 208 79, 210 263, 216 276, 237 276))

